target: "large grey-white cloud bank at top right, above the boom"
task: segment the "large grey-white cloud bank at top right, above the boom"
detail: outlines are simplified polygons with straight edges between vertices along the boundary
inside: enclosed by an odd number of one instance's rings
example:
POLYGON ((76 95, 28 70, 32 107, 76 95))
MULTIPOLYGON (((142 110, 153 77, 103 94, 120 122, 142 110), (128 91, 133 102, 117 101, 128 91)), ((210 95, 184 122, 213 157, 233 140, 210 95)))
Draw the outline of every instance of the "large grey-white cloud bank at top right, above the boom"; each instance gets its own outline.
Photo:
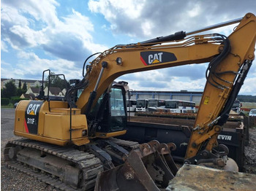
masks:
POLYGON ((254 12, 256 1, 89 1, 89 10, 102 14, 116 34, 142 39, 176 31, 194 31, 254 12))

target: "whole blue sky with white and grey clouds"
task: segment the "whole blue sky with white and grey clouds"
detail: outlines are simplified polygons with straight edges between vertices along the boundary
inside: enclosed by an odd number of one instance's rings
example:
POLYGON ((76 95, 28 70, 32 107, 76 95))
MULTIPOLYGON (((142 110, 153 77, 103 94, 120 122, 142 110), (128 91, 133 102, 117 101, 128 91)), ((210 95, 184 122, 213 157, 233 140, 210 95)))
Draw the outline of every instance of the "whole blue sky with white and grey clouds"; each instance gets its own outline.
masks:
MULTIPOLYGON (((255 0, 1 0, 1 78, 82 79, 83 62, 116 44, 195 31, 256 14, 255 0)), ((236 25, 210 32, 228 36, 236 25)), ((208 63, 126 74, 132 90, 203 91, 208 63)), ((239 94, 256 95, 256 61, 239 94)))

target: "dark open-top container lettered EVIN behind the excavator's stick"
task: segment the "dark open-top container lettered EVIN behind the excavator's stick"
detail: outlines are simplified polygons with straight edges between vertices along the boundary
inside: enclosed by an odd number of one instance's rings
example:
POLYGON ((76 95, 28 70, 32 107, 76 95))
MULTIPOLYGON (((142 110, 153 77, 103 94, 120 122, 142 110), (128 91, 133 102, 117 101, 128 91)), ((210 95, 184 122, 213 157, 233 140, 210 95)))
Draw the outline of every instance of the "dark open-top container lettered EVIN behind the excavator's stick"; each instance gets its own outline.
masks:
MULTIPOLYGON (((195 117, 196 114, 136 113, 135 116, 129 116, 127 133, 121 139, 139 143, 152 140, 173 142, 177 147, 172 151, 173 159, 183 163, 195 117)), ((244 146, 248 143, 248 117, 231 115, 218 136, 218 142, 227 146, 228 157, 236 160, 239 171, 243 171, 244 146)))

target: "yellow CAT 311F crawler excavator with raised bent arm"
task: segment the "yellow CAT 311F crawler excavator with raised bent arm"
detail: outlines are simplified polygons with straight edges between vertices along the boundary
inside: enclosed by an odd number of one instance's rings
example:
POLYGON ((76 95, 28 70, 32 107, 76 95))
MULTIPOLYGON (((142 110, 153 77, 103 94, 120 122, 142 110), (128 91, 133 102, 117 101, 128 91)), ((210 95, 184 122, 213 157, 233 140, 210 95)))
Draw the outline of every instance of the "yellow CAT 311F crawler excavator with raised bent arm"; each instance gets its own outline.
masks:
MULTIPOLYGON (((44 95, 42 85, 37 100, 19 102, 14 133, 23 139, 7 143, 4 161, 60 190, 173 190, 169 181, 176 174, 186 177, 170 155, 175 144, 138 144, 115 138, 127 131, 127 111, 124 87, 113 81, 123 74, 208 62, 206 87, 184 163, 186 169, 205 165, 237 171, 236 163, 227 158, 227 147, 215 148, 255 58, 255 40, 256 17, 248 13, 198 31, 118 44, 100 52, 89 65, 84 64, 83 79, 69 85, 64 98, 44 95), (199 34, 233 23, 238 26, 228 37, 199 34)), ((210 168, 201 169, 197 176, 204 180, 203 172, 210 168)))

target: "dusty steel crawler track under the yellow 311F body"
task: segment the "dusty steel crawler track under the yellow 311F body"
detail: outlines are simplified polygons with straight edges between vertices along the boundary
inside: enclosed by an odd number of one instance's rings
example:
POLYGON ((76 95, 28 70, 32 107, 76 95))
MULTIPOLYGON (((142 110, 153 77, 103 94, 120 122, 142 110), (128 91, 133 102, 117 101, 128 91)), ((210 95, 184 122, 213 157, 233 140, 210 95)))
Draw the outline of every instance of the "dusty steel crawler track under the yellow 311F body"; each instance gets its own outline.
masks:
POLYGON ((59 190, 93 190, 97 174, 103 171, 99 158, 88 152, 30 139, 8 141, 4 162, 59 190))

